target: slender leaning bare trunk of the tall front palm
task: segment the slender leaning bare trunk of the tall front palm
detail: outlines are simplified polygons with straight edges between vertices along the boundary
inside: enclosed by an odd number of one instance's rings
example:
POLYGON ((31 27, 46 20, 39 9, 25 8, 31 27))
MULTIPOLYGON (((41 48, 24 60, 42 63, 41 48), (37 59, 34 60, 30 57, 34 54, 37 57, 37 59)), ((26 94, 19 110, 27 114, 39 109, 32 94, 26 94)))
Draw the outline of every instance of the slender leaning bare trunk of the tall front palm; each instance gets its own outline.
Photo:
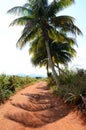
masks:
POLYGON ((54 78, 54 80, 55 80, 55 82, 56 82, 56 85, 58 86, 57 73, 56 73, 56 71, 55 71, 55 69, 54 69, 54 64, 53 64, 52 58, 51 58, 49 43, 48 43, 47 40, 45 41, 45 46, 46 46, 46 51, 47 51, 47 55, 48 55, 49 64, 50 64, 50 67, 51 67, 51 69, 52 69, 53 78, 54 78))

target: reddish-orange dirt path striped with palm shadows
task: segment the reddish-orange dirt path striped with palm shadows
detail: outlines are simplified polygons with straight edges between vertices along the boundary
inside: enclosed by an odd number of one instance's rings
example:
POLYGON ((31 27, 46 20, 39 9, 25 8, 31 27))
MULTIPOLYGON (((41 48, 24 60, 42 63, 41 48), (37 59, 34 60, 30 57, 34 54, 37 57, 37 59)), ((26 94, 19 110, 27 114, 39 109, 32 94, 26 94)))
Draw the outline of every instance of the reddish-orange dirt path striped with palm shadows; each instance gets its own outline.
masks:
POLYGON ((53 95, 46 82, 19 91, 0 106, 0 130, 86 130, 81 114, 53 95))

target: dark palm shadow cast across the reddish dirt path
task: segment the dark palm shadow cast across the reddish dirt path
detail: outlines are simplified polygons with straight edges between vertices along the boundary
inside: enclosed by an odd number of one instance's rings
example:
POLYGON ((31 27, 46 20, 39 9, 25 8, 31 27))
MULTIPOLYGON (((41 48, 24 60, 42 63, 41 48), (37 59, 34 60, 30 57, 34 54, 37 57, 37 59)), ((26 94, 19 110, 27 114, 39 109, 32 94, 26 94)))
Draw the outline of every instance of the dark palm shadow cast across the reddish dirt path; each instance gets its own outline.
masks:
POLYGON ((22 112, 8 113, 6 118, 21 123, 26 127, 38 128, 60 120, 71 111, 62 99, 50 93, 47 87, 37 89, 40 89, 41 93, 22 94, 22 96, 27 96, 27 104, 11 103, 13 106, 22 109, 22 112))

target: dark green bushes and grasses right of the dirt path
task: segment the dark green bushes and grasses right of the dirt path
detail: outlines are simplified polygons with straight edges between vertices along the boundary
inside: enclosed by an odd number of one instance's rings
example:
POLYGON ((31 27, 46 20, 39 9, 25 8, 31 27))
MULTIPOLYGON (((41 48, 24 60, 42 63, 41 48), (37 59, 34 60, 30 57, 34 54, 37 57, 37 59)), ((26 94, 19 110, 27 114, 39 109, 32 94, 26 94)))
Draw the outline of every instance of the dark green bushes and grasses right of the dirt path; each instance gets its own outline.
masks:
POLYGON ((52 76, 48 78, 48 85, 53 93, 62 97, 64 103, 78 106, 81 110, 86 110, 86 70, 77 69, 63 70, 58 76, 59 85, 55 85, 52 76))

